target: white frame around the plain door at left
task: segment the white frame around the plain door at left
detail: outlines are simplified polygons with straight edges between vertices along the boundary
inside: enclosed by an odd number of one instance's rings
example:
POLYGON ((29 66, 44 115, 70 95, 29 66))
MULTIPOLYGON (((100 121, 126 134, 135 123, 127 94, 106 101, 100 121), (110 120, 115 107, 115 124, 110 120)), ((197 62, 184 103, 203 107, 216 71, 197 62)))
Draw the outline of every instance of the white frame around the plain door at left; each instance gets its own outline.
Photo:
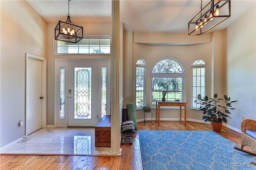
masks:
POLYGON ((46 118, 47 118, 47 115, 46 115, 46 110, 47 110, 47 107, 46 107, 46 103, 47 103, 47 96, 46 96, 46 86, 47 86, 47 82, 46 82, 46 59, 45 58, 42 58, 42 57, 38 57, 36 55, 32 55, 32 54, 29 54, 29 53, 26 53, 26 91, 25 91, 25 102, 26 102, 26 106, 25 106, 25 127, 26 127, 26 132, 25 132, 25 135, 26 137, 28 137, 28 133, 27 133, 27 126, 26 126, 26 123, 27 123, 27 107, 28 107, 28 101, 27 101, 27 71, 28 71, 28 59, 33 59, 33 60, 38 60, 38 61, 42 61, 42 96, 44 97, 44 100, 42 100, 42 128, 46 128, 47 127, 47 122, 46 122, 46 118))

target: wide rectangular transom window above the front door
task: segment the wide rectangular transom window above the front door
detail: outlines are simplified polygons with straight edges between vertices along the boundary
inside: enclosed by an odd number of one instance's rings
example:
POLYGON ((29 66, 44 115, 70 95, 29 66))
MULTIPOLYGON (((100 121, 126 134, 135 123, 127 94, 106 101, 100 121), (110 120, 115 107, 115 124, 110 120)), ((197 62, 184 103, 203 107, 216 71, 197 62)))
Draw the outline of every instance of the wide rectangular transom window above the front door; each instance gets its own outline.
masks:
POLYGON ((78 43, 56 41, 57 54, 110 54, 110 36, 84 37, 78 43))

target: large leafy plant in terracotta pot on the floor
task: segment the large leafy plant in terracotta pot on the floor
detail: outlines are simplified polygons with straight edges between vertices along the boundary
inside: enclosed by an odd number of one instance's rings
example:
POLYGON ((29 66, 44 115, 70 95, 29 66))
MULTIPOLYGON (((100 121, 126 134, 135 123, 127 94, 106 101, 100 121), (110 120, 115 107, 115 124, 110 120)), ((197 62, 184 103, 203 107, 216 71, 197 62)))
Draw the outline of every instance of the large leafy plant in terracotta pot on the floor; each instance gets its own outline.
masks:
POLYGON ((201 106, 199 107, 199 110, 203 111, 203 120, 204 121, 210 121, 212 125, 212 130, 214 131, 221 131, 222 128, 222 122, 227 122, 226 117, 231 117, 228 114, 231 114, 228 109, 234 109, 231 108, 231 104, 237 101, 230 101, 230 97, 224 95, 224 100, 226 105, 221 106, 218 105, 220 100, 223 99, 218 99, 218 95, 214 94, 214 98, 208 98, 208 96, 205 96, 204 98, 201 97, 200 94, 197 96, 197 100, 194 102, 197 104, 200 104, 201 106))

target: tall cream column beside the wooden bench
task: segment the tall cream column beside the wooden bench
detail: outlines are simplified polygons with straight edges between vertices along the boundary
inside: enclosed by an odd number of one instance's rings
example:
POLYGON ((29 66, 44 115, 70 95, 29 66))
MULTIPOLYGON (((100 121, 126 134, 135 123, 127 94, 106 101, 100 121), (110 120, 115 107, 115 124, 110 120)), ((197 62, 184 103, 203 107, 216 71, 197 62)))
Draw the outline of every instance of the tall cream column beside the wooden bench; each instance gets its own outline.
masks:
POLYGON ((111 148, 110 154, 120 154, 120 108, 119 108, 119 38, 120 2, 112 0, 112 58, 111 58, 111 148))

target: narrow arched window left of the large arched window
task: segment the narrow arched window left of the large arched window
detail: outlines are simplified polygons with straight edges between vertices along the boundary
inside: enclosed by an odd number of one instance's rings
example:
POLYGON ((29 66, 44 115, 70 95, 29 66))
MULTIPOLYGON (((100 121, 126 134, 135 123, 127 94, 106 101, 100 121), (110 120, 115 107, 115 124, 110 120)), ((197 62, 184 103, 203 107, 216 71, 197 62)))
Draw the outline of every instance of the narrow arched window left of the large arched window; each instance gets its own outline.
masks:
POLYGON ((139 59, 136 62, 136 109, 141 109, 146 104, 145 76, 146 62, 139 59))

